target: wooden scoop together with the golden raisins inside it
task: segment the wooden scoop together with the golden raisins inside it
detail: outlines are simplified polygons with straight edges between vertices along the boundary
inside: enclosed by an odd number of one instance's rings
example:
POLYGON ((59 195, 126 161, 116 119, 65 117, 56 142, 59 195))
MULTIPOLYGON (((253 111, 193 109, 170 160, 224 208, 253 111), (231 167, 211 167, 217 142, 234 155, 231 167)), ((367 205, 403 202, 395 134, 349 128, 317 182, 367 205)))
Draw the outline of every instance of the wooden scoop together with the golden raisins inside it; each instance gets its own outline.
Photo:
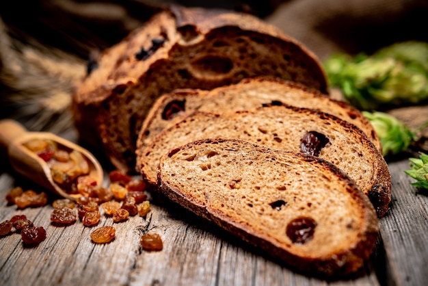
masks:
POLYGON ((82 196, 79 185, 103 183, 94 155, 53 133, 29 132, 14 120, 0 120, 0 147, 16 172, 64 198, 82 196))

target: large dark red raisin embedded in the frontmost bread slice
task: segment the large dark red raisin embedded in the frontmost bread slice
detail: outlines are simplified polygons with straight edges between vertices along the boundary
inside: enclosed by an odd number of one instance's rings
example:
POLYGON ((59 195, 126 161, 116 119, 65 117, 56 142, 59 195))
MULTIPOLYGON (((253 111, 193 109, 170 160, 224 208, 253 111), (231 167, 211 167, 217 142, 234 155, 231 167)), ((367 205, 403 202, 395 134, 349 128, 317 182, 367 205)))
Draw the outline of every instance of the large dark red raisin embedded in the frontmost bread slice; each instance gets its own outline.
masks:
POLYGON ((293 244, 306 244, 314 237, 316 226, 312 218, 295 218, 286 226, 286 235, 293 244))

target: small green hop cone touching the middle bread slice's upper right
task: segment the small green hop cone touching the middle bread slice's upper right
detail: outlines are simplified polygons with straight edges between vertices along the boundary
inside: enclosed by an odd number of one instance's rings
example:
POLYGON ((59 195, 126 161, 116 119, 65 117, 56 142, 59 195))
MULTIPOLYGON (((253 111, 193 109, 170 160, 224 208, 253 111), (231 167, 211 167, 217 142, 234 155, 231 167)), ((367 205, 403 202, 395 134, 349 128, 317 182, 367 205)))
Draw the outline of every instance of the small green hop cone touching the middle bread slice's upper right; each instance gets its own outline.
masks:
POLYGON ((405 151, 414 133, 400 120, 384 112, 362 112, 370 120, 382 144, 383 155, 396 155, 405 151))

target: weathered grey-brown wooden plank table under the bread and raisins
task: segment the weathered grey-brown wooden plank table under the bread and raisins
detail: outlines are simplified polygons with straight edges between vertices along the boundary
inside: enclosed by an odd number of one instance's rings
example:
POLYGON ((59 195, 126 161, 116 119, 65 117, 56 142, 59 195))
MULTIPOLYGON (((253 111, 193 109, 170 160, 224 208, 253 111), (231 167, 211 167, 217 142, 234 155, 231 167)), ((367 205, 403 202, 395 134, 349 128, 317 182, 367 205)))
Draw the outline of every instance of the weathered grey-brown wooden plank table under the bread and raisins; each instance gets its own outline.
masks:
MULTIPOLYGON (((74 129, 60 133, 76 141, 74 129)), ((16 174, 7 158, 0 164, 0 221, 25 214, 47 237, 27 248, 17 233, 0 238, 0 285, 427 285, 428 197, 416 192, 403 173, 407 158, 388 161, 392 203, 380 219, 381 233, 369 261, 358 275, 325 281, 293 272, 240 242, 217 226, 166 200, 152 200, 147 218, 114 224, 116 239, 94 244, 94 228, 80 222, 53 226, 51 205, 17 209, 3 199, 14 186, 38 189, 16 174), (159 233, 164 248, 146 252, 139 239, 159 233)), ((107 178, 105 180, 107 182, 107 178)), ((50 203, 54 199, 50 196, 50 203)), ((113 225, 102 216, 98 226, 113 225)))

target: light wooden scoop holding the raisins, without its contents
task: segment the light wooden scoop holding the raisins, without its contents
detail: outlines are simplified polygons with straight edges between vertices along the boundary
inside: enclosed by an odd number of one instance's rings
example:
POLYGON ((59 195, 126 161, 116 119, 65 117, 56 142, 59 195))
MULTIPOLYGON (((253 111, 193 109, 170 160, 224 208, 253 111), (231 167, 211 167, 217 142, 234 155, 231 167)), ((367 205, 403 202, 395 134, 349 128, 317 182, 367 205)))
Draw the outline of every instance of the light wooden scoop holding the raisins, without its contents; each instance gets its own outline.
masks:
POLYGON ((51 169, 46 161, 23 145, 31 140, 51 140, 56 142, 59 149, 71 149, 80 152, 85 160, 88 161, 90 177, 96 181, 97 185, 103 183, 103 168, 101 168, 94 155, 85 148, 64 138, 60 138, 53 133, 29 132, 23 125, 14 120, 0 120, 0 148, 2 149, 1 151, 5 151, 2 153, 8 154, 10 164, 16 172, 23 174, 25 177, 31 179, 31 181, 38 183, 42 187, 46 187, 46 189, 64 198, 73 200, 79 198, 81 194, 69 194, 55 183, 52 179, 51 169))

